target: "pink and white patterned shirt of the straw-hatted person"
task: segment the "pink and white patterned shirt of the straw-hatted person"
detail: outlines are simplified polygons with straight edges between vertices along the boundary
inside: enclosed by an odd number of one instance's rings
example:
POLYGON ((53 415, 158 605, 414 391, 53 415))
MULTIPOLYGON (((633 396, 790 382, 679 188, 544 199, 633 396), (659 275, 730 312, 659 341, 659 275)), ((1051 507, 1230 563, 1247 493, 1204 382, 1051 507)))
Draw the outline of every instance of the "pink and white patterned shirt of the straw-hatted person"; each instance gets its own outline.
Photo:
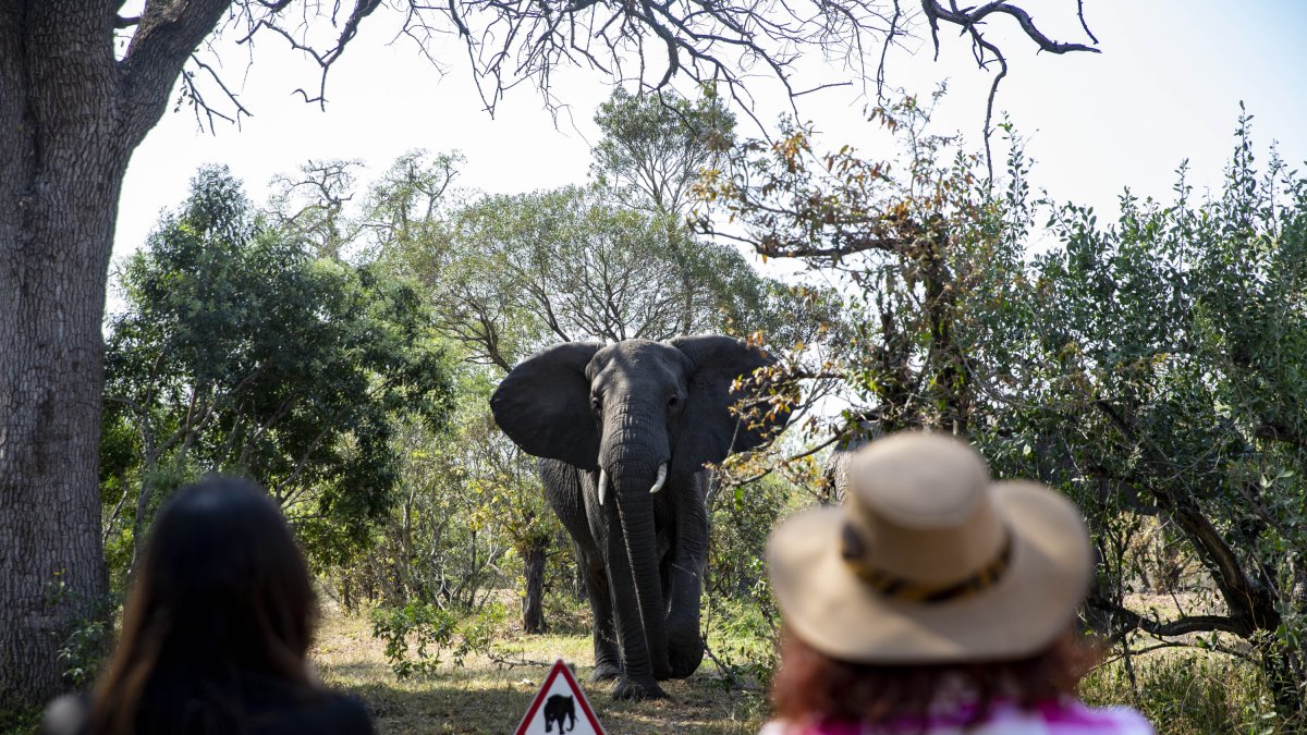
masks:
POLYGON ((903 718, 886 725, 856 722, 813 722, 791 725, 769 722, 758 735, 1153 735, 1153 726, 1144 717, 1125 708, 1093 709, 1076 700, 1048 702, 1033 709, 996 704, 989 715, 967 725, 974 710, 961 708, 953 713, 933 713, 921 718, 903 718))

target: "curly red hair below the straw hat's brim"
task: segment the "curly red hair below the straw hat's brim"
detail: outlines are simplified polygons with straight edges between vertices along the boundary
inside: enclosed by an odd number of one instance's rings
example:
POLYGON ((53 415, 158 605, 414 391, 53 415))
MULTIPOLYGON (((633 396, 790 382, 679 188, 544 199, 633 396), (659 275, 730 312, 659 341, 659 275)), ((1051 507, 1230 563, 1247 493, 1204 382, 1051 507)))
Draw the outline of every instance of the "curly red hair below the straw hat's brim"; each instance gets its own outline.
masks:
POLYGON ((997 701, 1022 708, 1074 696, 1097 650, 1072 632, 1016 660, 884 666, 834 659, 784 633, 771 685, 776 715, 792 723, 923 722, 936 697, 961 684, 975 696, 963 725, 975 725, 997 701))

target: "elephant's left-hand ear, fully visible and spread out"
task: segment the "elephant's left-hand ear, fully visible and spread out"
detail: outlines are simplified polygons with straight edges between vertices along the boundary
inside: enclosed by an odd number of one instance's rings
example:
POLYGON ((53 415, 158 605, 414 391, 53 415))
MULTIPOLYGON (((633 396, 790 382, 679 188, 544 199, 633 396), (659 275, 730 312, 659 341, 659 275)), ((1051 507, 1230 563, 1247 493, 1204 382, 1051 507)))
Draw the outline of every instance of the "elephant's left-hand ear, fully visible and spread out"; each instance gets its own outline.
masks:
POLYGON ((527 454, 599 467, 586 366, 604 345, 563 343, 521 361, 490 396, 494 420, 527 454))

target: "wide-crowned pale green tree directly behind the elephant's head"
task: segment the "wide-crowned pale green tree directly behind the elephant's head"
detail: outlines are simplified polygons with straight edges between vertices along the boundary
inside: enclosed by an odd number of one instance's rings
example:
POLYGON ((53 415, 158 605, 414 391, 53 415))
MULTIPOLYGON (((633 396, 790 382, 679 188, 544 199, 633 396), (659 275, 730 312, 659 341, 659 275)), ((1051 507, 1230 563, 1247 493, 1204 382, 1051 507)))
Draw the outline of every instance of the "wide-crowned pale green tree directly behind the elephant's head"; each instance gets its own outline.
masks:
POLYGON ((667 217, 609 204, 593 188, 486 196, 396 258, 426 288, 442 332, 469 360, 505 371, 559 340, 801 324, 782 313, 780 284, 731 247, 685 239, 667 217))

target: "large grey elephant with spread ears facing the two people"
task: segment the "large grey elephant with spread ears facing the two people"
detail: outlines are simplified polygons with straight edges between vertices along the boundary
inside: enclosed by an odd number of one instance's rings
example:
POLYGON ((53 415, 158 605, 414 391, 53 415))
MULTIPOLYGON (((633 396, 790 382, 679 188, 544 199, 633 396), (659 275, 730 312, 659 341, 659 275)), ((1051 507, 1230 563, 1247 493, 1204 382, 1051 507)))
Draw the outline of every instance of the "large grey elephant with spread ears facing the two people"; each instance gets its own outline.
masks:
POLYGON ((706 463, 753 449, 787 413, 742 421, 736 379, 775 361, 744 340, 563 343, 524 360, 490 398, 572 538, 593 613, 591 681, 665 697, 703 659, 706 463))

